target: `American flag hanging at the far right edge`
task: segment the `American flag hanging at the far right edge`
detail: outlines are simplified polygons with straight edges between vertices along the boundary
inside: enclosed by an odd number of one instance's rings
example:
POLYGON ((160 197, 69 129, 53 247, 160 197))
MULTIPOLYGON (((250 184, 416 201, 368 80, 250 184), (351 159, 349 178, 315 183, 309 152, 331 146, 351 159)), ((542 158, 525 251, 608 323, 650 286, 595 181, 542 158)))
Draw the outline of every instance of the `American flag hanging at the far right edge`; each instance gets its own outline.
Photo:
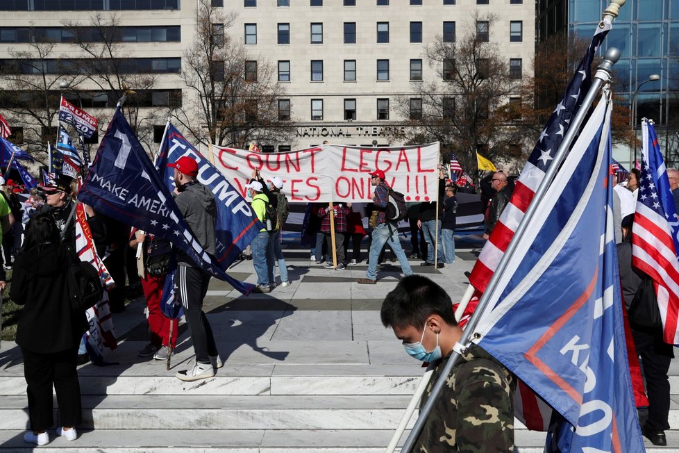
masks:
POLYGON ((653 280, 665 343, 679 343, 677 213, 653 124, 642 120, 644 148, 632 228, 632 265, 653 280))

